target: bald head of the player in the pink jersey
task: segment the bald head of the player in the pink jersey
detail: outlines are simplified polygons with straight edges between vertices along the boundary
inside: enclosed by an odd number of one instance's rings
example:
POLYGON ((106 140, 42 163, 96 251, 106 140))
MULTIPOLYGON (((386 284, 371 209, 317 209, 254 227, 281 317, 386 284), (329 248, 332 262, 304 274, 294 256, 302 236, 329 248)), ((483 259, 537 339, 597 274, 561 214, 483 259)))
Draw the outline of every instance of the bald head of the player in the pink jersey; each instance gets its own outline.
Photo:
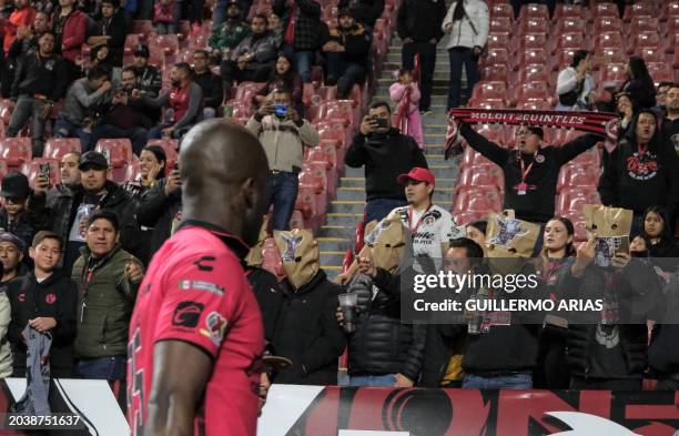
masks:
POLYGON ((209 120, 183 138, 179 161, 184 215, 256 243, 268 176, 260 141, 237 124, 209 120))

